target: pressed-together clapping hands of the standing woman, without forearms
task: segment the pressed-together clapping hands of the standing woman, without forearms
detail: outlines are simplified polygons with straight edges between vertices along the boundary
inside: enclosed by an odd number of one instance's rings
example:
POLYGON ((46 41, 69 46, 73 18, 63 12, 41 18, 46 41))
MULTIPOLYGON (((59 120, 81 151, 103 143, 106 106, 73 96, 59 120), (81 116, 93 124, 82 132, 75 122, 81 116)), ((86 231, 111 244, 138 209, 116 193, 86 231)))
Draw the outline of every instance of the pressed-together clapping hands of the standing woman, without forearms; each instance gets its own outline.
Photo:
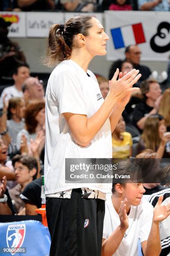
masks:
POLYGON ((119 69, 117 69, 117 71, 114 73, 112 80, 109 81, 109 94, 124 105, 126 102, 128 102, 127 100, 132 92, 140 90, 140 88, 132 88, 132 86, 140 79, 141 74, 139 74, 139 70, 132 69, 119 80, 117 80, 118 75, 119 69))

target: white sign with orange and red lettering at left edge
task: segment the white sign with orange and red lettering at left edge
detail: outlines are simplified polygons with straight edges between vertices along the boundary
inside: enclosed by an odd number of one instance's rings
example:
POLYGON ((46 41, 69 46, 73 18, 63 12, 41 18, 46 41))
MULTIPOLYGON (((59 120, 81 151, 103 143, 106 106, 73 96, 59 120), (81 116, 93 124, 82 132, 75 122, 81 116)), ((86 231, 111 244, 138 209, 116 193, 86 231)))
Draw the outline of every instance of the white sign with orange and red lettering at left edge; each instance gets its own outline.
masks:
POLYGON ((12 23, 9 27, 9 37, 26 37, 25 13, 0 12, 0 17, 12 23))

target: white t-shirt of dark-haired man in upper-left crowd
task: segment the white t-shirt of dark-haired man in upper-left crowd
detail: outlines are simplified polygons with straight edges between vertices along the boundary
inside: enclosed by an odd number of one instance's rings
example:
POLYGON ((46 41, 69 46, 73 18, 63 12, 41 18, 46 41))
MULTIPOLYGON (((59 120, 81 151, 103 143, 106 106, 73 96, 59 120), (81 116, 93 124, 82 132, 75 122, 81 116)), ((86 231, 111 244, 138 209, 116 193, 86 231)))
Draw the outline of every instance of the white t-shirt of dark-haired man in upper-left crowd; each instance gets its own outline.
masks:
POLYGON ((23 92, 19 91, 17 89, 17 87, 15 86, 15 84, 12 85, 12 86, 6 87, 3 90, 2 94, 0 95, 0 108, 3 108, 3 96, 4 96, 4 94, 7 95, 5 97, 5 101, 8 101, 8 100, 10 100, 13 97, 20 97, 20 98, 23 97, 23 92))

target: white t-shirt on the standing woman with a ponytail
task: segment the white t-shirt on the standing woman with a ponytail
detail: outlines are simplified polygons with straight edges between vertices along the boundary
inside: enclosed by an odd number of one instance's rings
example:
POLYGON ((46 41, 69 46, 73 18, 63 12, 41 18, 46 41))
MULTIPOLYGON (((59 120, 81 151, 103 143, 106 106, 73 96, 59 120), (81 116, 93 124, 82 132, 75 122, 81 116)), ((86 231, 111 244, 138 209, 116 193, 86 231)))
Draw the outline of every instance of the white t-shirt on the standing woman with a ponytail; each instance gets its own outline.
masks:
POLYGON ((112 158, 109 118, 91 143, 76 144, 62 113, 84 114, 90 118, 104 99, 96 77, 74 61, 62 61, 51 73, 46 89, 45 194, 88 187, 110 192, 112 184, 65 183, 65 158, 112 158))

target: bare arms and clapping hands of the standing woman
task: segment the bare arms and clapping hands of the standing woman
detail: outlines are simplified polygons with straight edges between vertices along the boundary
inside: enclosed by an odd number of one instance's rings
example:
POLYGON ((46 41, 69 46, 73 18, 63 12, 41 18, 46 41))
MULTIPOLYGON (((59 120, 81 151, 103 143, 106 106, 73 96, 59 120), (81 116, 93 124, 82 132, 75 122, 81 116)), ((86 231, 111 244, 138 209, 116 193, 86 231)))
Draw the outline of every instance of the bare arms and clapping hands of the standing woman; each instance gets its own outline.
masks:
POLYGON ((132 88, 132 85, 141 77, 141 75, 138 73, 139 71, 133 69, 121 79, 116 80, 119 74, 119 69, 117 69, 117 72, 115 72, 114 77, 109 84, 109 94, 99 110, 97 110, 97 112, 94 113, 94 115, 92 115, 90 118, 87 118, 86 115, 63 113, 63 116, 67 120, 71 133, 77 144, 81 146, 88 146, 92 138, 101 129, 107 118, 109 118, 113 108, 117 109, 117 111, 112 112, 111 118, 112 130, 115 128, 120 115, 127 104, 124 98, 130 97, 129 95, 131 92, 139 90, 139 88, 132 88))

